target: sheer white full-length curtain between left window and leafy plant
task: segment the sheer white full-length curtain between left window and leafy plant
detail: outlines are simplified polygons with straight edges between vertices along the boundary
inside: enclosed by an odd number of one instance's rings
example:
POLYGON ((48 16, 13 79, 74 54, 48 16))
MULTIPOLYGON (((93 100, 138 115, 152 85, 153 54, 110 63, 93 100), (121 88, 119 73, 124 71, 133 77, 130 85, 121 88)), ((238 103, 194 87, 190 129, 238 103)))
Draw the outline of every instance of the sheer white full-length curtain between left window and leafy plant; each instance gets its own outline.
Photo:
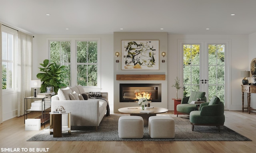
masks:
POLYGON ((31 96, 33 37, 18 31, 18 116, 24 115, 24 98, 31 96))

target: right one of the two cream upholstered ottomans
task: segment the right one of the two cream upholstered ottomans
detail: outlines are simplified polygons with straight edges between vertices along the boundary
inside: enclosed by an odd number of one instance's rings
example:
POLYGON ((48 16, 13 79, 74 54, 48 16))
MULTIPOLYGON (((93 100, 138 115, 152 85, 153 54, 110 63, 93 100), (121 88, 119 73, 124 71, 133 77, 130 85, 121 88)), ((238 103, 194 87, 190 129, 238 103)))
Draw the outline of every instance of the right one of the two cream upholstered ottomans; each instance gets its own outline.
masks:
POLYGON ((148 129, 151 138, 174 138, 175 125, 170 116, 150 116, 148 129))

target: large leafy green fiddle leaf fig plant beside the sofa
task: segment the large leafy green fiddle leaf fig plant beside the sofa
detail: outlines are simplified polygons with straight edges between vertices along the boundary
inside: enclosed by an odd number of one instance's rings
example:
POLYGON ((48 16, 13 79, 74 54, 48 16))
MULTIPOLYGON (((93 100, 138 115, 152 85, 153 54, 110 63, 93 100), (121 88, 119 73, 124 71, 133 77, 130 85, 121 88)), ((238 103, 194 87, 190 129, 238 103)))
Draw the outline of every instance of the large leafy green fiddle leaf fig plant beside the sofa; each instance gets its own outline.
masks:
POLYGON ((60 77, 64 71, 64 65, 60 66, 55 62, 50 63, 48 59, 45 59, 40 65, 42 67, 39 67, 39 69, 42 73, 38 73, 36 77, 41 79, 41 92, 46 92, 46 87, 52 86, 54 92, 57 93, 59 88, 67 86, 60 77))

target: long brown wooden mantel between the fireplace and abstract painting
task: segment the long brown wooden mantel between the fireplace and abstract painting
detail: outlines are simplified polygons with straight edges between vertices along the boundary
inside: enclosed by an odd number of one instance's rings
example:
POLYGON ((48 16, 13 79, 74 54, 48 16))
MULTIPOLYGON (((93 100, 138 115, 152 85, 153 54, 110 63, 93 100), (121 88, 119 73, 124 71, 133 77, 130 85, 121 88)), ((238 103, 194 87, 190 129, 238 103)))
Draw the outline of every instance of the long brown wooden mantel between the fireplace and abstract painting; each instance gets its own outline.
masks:
POLYGON ((116 75, 116 80, 165 80, 165 75, 116 75))

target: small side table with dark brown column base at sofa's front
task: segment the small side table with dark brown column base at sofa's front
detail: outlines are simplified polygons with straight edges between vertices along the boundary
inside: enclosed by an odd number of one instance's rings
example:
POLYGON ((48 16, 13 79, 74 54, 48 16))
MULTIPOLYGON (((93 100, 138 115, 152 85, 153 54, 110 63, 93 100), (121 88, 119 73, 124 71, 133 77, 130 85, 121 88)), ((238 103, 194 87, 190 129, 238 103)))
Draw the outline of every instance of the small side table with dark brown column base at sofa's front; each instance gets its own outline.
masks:
POLYGON ((53 137, 62 137, 62 132, 68 131, 71 134, 71 112, 64 113, 50 112, 50 134, 53 137), (68 114, 68 127, 62 127, 62 114, 68 114))

